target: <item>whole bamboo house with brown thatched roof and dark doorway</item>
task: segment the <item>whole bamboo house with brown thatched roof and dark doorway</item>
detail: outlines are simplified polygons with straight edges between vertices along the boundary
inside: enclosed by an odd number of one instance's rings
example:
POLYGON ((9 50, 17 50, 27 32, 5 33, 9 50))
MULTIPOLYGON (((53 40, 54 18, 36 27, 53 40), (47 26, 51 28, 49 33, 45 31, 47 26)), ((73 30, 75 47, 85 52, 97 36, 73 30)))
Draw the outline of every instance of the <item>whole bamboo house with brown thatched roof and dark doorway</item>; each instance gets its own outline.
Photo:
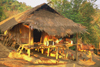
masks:
MULTIPOLYGON (((50 44, 48 41, 54 41, 55 37, 86 32, 84 26, 65 18, 45 3, 0 22, 0 29, 19 45, 34 45, 34 48, 37 46, 35 43, 48 46, 50 44)), ((52 45, 54 44, 52 42, 52 45)), ((46 46, 44 48, 48 48, 47 56, 49 56, 50 47, 46 46)), ((58 51, 56 55, 58 56, 58 51)))

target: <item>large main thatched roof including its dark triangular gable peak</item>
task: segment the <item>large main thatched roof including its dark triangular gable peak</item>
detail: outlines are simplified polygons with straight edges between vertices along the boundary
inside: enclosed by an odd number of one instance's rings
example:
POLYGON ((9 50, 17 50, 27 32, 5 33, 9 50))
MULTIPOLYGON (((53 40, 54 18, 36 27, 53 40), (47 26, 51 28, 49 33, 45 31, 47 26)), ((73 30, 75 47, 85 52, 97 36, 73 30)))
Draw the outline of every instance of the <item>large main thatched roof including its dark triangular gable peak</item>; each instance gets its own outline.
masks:
MULTIPOLYGON (((25 24, 30 23, 33 28, 45 31, 49 35, 64 36, 66 34, 86 32, 84 26, 63 17, 45 3, 30 10, 27 10, 14 18, 17 22, 23 22, 25 24)), ((7 24, 7 21, 5 23, 7 24)))

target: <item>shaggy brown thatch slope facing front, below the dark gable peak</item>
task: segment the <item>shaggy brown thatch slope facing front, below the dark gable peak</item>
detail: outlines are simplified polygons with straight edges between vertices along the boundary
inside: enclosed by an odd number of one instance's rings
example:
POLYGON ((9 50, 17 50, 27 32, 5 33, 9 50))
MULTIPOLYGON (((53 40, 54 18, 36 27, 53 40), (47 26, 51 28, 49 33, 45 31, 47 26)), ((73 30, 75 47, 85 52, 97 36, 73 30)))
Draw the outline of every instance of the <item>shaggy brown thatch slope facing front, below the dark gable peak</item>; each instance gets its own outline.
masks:
POLYGON ((50 35, 57 34, 63 36, 68 33, 85 32, 85 28, 80 24, 74 23, 68 18, 64 18, 58 14, 43 9, 35 11, 33 16, 27 18, 24 22, 31 22, 30 24, 33 28, 45 30, 50 35))

